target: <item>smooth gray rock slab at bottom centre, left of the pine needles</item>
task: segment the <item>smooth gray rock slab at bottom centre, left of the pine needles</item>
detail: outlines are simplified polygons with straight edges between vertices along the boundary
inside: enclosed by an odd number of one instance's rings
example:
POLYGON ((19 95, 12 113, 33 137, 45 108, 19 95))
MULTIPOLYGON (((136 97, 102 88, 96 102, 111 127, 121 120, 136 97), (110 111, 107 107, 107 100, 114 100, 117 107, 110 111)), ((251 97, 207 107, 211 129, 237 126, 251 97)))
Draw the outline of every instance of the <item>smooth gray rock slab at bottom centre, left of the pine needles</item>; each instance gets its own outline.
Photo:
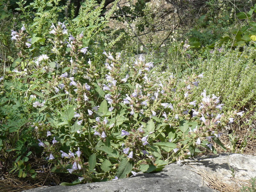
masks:
POLYGON ((139 173, 126 179, 75 186, 34 188, 26 192, 216 192, 202 184, 200 175, 184 169, 184 166, 172 164, 161 172, 139 173))

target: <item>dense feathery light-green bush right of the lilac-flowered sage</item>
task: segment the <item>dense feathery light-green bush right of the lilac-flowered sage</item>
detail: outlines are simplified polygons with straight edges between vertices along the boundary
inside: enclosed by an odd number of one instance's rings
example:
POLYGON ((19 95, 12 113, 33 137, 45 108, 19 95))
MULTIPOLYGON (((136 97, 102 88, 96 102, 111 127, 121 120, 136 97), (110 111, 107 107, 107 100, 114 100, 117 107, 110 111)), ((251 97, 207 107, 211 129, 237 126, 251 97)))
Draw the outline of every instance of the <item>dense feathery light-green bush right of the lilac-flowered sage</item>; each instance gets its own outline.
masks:
MULTIPOLYGON (((223 47, 215 49, 206 60, 199 60, 198 72, 204 72, 204 77, 195 95, 204 89, 220 95, 225 103, 223 108, 241 109, 255 105, 255 50, 245 48, 243 52, 238 49, 227 52, 223 47)), ((253 110, 253 109, 251 109, 253 110)))

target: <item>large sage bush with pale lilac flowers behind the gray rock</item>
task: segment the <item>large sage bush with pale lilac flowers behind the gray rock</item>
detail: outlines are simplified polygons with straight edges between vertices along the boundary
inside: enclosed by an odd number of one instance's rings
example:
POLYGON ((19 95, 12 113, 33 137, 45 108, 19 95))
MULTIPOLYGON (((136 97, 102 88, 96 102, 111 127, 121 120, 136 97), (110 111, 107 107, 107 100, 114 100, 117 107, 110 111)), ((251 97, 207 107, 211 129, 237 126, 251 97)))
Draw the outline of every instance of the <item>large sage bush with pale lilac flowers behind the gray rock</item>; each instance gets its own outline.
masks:
MULTIPOLYGON (((22 31, 12 36, 25 49, 30 45, 22 31)), ((52 171, 77 175, 63 185, 159 171, 205 150, 216 153, 213 142, 225 149, 220 130, 243 112, 222 113, 220 98, 205 91, 192 100, 203 74, 155 78, 149 75, 154 63, 142 56, 125 68, 120 53, 103 51, 106 74, 100 77, 83 32, 73 36, 59 22, 50 34, 52 52, 24 58, 23 75, 37 95, 30 97, 31 110, 43 116, 31 124, 44 157, 52 171), (32 75, 39 72, 47 74, 41 87, 32 75)))

